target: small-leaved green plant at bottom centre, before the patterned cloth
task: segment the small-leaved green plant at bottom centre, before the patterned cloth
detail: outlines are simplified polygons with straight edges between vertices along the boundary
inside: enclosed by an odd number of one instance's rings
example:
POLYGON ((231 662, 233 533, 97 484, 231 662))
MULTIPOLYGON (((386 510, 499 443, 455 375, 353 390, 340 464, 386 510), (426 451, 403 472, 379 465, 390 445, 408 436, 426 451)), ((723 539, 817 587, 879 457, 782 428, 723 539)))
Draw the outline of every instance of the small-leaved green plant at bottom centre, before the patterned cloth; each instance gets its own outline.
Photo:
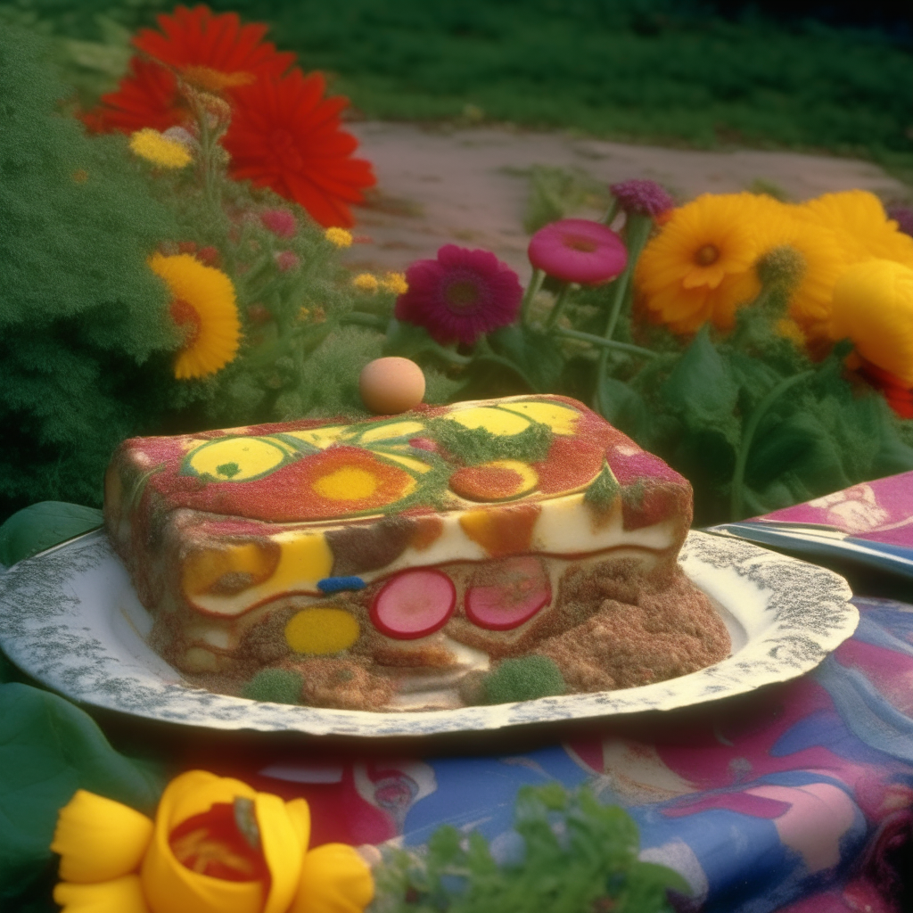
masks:
POLYGON ((677 872, 640 862, 637 826, 624 809, 560 784, 523 787, 515 828, 519 861, 498 865, 481 834, 441 827, 425 852, 387 851, 375 872, 372 913, 671 913, 677 872))

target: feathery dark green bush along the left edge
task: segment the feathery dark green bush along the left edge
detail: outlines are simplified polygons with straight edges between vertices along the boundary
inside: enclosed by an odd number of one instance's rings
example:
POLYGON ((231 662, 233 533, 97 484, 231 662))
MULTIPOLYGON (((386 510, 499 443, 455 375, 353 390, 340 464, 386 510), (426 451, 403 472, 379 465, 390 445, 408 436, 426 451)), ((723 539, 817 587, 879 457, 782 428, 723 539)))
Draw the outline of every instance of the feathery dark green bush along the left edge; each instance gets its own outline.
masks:
POLYGON ((162 407, 178 338, 146 266, 173 217, 58 110, 37 38, 0 30, 0 513, 100 503, 100 468, 162 407))

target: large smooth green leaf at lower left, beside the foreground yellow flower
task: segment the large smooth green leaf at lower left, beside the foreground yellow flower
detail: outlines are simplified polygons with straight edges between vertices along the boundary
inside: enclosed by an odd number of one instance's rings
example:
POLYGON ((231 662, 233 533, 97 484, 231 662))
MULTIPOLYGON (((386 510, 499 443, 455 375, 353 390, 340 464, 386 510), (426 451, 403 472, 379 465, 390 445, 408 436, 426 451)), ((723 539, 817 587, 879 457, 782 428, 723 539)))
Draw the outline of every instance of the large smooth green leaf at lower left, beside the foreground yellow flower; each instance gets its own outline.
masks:
POLYGON ((0 908, 50 863, 58 811, 74 792, 151 813, 163 785, 160 774, 113 750, 69 701, 28 685, 0 685, 0 908))

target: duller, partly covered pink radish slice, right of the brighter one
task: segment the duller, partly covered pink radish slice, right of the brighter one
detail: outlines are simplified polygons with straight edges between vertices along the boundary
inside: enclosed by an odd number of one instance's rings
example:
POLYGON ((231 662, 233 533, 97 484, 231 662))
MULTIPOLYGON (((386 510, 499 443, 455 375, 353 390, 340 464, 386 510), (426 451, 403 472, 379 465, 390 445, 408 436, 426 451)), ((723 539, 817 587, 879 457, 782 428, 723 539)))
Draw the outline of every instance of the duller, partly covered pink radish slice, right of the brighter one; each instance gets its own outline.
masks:
POLYGON ((528 621, 551 603, 551 581, 538 558, 509 558, 498 564, 496 585, 466 591, 466 614, 489 631, 507 631, 528 621))

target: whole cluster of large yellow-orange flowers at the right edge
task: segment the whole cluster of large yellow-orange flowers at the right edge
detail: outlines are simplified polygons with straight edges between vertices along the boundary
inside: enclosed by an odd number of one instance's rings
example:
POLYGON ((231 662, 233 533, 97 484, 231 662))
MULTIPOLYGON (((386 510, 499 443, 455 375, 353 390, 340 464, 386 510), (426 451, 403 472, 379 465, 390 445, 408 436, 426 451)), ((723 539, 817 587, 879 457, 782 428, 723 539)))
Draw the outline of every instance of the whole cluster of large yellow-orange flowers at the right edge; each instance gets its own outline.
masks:
POLYGON ((855 320, 847 313, 872 310, 865 302, 877 298, 882 311, 897 315, 888 322, 897 324, 913 351, 913 321, 903 328, 901 318, 913 304, 904 305, 899 292, 888 296, 889 286, 899 289, 903 283, 885 278, 896 278, 898 268, 913 269, 913 237, 899 231, 878 198, 866 191, 824 194, 798 205, 747 193, 699 196, 674 210, 645 247, 635 275, 637 294, 646 310, 673 331, 694 332, 707 321, 729 330, 736 309, 761 293, 759 261, 778 247, 792 247, 803 261, 801 276, 789 290, 788 318, 781 321, 784 335, 812 343, 849 335, 857 345, 865 337, 864 357, 886 370, 894 365, 897 373, 897 339, 888 339, 887 324, 884 333, 863 331, 868 318, 855 320), (836 320, 838 283, 856 265, 873 261, 893 266, 862 270, 856 284, 847 287, 853 290, 840 299, 843 310, 836 320), (876 274, 881 278, 876 280, 876 274), (866 291, 859 290, 860 282, 867 283, 866 291))

